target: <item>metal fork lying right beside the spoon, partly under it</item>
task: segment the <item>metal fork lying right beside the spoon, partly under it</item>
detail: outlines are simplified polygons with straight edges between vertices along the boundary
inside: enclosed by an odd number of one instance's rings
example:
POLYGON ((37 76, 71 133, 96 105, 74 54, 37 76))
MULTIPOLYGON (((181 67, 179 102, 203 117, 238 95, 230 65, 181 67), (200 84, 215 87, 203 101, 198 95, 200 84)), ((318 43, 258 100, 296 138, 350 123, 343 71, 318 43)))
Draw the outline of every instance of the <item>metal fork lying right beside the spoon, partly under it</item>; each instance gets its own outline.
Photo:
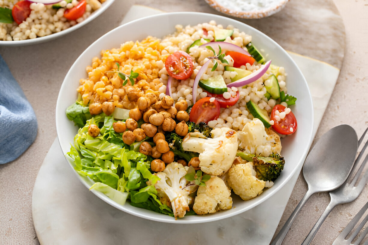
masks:
MULTIPOLYGON (((368 131, 368 128, 364 131, 363 135, 360 137, 358 141, 358 147, 364 140, 364 137, 365 137, 365 134, 367 134, 367 131, 368 131)), ((326 219, 326 217, 329 215, 332 209, 335 208, 336 205, 340 203, 348 203, 348 202, 354 201, 359 196, 359 194, 362 192, 368 180, 368 171, 365 171, 365 173, 363 174, 362 178, 360 179, 358 183, 357 183, 357 180, 360 177, 364 169, 364 166, 368 161, 368 154, 365 156, 360 166, 358 163, 360 162, 364 154, 364 151, 367 147, 368 147, 368 141, 365 143, 357 159, 355 160, 353 169, 351 169, 351 172, 349 176, 347 177, 345 183, 342 184, 336 190, 329 192, 330 198, 331 198, 329 205, 327 206, 325 212, 322 213, 321 217, 319 218, 317 223, 314 225, 312 230, 309 232, 307 238, 304 239, 304 242, 302 243, 302 245, 309 245, 312 242, 319 227, 321 227, 323 221, 326 219), (357 169, 358 171, 356 171, 357 169), (351 180, 351 178, 353 179, 351 180)))

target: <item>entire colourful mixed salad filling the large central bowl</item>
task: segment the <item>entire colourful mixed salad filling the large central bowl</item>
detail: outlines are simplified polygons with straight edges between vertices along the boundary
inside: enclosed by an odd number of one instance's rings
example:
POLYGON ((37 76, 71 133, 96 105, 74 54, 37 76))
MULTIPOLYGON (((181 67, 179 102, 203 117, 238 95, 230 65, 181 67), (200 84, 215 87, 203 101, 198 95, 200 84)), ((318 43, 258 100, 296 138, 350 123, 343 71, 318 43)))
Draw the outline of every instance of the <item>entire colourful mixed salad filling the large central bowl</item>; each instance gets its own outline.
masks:
POLYGON ((297 121, 285 69, 250 35, 215 21, 175 28, 103 50, 66 113, 79 127, 68 155, 92 189, 181 218, 272 187, 279 135, 297 121))

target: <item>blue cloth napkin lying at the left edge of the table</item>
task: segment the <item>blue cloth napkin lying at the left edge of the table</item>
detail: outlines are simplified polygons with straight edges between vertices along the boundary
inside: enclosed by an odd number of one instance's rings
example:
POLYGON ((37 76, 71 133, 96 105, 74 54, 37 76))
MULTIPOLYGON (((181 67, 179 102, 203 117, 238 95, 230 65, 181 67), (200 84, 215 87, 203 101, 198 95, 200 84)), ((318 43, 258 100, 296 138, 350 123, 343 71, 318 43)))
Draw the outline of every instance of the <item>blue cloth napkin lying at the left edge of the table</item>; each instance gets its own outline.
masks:
POLYGON ((0 55, 0 164, 17 159, 36 135, 35 112, 0 55))

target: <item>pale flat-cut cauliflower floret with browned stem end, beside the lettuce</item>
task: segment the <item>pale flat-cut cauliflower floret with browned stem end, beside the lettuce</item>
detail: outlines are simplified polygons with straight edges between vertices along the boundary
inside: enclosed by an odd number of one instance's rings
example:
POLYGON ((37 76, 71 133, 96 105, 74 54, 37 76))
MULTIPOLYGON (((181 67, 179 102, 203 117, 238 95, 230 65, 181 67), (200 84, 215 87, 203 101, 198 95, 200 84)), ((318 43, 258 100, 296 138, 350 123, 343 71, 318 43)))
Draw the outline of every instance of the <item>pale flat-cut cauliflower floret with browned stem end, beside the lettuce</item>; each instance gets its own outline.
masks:
POLYGON ((180 163, 172 162, 166 166, 163 172, 155 173, 160 178, 156 182, 155 188, 158 196, 165 200, 169 199, 174 216, 182 218, 189 211, 189 205, 193 203, 194 198, 189 194, 196 191, 197 185, 189 185, 189 181, 185 179, 189 167, 180 163), (185 187, 185 188, 184 188, 185 187))

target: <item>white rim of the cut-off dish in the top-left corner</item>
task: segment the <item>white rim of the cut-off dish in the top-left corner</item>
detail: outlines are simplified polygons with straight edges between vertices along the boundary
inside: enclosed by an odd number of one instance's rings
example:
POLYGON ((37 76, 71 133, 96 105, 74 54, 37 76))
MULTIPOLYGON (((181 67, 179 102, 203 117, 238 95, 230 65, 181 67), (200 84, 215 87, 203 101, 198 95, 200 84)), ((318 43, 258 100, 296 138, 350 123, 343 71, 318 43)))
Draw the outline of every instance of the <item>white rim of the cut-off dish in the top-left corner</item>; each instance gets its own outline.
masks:
POLYGON ((26 40, 19 40, 19 41, 0 41, 0 46, 26 46, 26 45, 32 45, 32 44, 39 44, 47 41, 51 41, 54 39, 57 39, 61 36, 64 36, 82 26, 87 24, 88 22, 92 21, 96 17, 98 17, 100 14, 103 13, 115 0, 106 0, 105 3, 101 5, 101 7, 94 11, 91 15, 89 15, 88 18, 86 18, 81 23, 78 23, 77 25, 71 26, 68 29, 62 30, 61 32, 53 33, 51 35, 47 35, 44 37, 37 37, 35 39, 26 39, 26 40))

